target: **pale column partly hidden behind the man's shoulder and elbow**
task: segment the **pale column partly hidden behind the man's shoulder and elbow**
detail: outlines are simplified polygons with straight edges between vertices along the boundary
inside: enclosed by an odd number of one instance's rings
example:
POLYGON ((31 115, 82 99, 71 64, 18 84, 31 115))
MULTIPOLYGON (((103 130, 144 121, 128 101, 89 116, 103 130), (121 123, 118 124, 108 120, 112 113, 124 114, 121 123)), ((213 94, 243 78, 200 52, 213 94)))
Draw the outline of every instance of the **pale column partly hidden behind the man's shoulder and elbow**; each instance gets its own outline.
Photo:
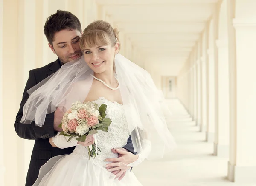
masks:
MULTIPOLYGON (((36 1, 20 0, 19 2, 19 62, 17 65, 17 68, 19 70, 17 70, 17 102, 21 101, 23 90, 28 79, 29 70, 36 68, 36 1)), ((41 33, 43 33, 43 30, 41 31, 41 33)), ((19 183, 25 184, 26 175, 29 168, 30 157, 34 146, 34 141, 19 138, 18 144, 18 151, 20 154, 18 156, 18 166, 19 170, 23 170, 23 175, 20 178, 19 183)), ((19 174, 19 176, 21 176, 21 174, 19 174)))

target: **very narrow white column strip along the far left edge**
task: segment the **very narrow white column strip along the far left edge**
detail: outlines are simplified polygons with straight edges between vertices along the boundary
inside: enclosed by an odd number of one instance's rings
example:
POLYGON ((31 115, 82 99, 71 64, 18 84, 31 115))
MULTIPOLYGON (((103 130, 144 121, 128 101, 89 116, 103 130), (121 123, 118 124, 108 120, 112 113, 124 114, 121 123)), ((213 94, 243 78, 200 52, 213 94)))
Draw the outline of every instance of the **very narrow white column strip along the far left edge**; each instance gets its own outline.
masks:
POLYGON ((4 185, 3 159, 3 0, 0 0, 0 185, 4 185))

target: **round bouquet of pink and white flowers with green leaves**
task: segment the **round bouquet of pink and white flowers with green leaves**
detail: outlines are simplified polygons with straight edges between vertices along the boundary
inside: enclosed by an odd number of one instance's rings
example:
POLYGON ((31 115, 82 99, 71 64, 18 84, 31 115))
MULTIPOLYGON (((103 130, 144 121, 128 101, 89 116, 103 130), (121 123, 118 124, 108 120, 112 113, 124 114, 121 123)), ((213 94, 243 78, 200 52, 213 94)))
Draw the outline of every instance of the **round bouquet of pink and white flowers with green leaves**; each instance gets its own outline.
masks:
MULTIPOLYGON (((77 141, 84 142, 87 135, 98 133, 98 130, 108 132, 108 127, 111 124, 111 119, 106 118, 106 104, 100 107, 93 102, 81 103, 76 101, 72 107, 64 114, 61 124, 59 125, 63 131, 60 135, 76 138, 77 141)), ((89 159, 95 158, 100 149, 97 147, 96 141, 90 147, 88 146, 89 159)))

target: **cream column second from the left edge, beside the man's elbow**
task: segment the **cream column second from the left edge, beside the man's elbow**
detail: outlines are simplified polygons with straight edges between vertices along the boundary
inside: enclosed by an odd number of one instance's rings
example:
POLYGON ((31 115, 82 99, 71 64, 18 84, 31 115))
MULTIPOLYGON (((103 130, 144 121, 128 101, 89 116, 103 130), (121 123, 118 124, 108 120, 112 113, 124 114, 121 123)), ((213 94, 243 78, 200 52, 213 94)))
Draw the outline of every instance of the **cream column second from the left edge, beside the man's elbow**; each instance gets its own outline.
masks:
MULTIPOLYGON (((17 114, 17 72, 18 72, 18 0, 3 0, 3 64, 2 64, 2 87, 3 87, 3 155, 4 185, 17 186, 23 177, 23 169, 18 168, 18 136, 14 130, 14 121, 17 114), (10 11, 11 10, 11 11, 10 11), (21 174, 20 174, 21 173, 21 174)), ((21 78, 22 79, 22 78, 21 78)), ((20 95, 21 96, 21 95, 20 95)))

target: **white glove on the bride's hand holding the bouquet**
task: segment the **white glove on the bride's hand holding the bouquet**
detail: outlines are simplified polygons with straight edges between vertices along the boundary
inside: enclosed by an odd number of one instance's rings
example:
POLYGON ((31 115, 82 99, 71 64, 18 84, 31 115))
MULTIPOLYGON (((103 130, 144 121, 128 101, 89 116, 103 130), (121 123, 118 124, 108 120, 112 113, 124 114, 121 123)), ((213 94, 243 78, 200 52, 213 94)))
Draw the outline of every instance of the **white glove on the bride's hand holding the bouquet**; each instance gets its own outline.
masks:
POLYGON ((77 144, 76 137, 73 137, 69 142, 67 140, 70 138, 68 136, 60 135, 61 132, 58 132, 57 135, 52 137, 52 142, 60 149, 65 149, 68 147, 74 147, 77 144))

